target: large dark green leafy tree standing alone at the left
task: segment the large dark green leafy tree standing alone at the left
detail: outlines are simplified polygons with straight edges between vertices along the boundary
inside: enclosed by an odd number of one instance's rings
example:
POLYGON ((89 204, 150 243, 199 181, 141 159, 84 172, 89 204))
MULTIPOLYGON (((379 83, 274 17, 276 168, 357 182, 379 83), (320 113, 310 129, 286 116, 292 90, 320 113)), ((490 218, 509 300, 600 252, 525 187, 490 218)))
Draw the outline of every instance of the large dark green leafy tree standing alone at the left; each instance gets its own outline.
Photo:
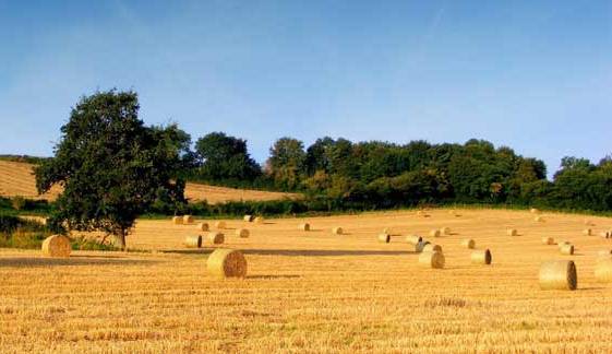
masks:
POLYGON ((124 249, 135 219, 158 194, 184 202, 184 184, 172 181, 181 167, 177 129, 145 127, 136 93, 83 97, 61 132, 55 157, 35 170, 39 193, 53 185, 64 189, 52 224, 105 232, 124 249))

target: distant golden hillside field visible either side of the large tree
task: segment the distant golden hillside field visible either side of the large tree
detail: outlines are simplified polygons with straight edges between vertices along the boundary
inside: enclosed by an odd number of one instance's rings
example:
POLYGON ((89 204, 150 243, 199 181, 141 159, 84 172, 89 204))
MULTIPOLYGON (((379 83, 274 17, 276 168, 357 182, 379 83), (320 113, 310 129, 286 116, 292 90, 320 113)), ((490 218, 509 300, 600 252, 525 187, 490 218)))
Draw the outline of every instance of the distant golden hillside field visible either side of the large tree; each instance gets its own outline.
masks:
MULTIPOLYGON (((36 182, 32 175, 33 166, 27 163, 0 161, 0 197, 21 196, 28 199, 55 200, 61 192, 59 187, 53 187, 50 192, 43 196, 36 193, 36 182)), ((207 200, 208 203, 215 204, 225 201, 299 198, 299 194, 187 184, 185 197, 192 201, 207 200)))

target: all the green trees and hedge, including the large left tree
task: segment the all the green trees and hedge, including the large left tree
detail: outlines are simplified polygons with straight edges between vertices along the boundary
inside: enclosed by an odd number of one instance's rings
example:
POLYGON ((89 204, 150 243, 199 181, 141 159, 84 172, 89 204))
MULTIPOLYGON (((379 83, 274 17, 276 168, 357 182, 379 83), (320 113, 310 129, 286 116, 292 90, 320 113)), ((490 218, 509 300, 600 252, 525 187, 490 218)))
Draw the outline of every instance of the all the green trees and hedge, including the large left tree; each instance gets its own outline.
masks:
POLYGON ((542 161, 484 140, 396 144, 325 137, 305 148, 285 137, 273 143, 261 166, 244 139, 212 132, 193 143, 176 123, 145 126, 139 109, 136 93, 115 90, 83 97, 72 109, 55 156, 35 169, 39 192, 57 184, 64 188, 53 205, 51 227, 104 231, 123 248, 134 220, 147 212, 308 212, 443 203, 612 210, 610 156, 598 164, 564 157, 548 180, 542 161), (188 180, 300 191, 305 197, 189 206, 188 180))

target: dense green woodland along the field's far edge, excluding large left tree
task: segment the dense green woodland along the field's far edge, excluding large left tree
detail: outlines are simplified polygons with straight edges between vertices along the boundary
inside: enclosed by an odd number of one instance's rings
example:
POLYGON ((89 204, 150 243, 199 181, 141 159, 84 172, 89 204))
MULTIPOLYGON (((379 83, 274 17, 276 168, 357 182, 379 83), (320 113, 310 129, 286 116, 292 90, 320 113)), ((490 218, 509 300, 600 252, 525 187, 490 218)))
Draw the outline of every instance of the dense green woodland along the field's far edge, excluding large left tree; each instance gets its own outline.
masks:
POLYGON ((548 180, 541 160, 485 140, 396 144, 325 137, 305 148, 297 139, 280 138, 260 166, 250 157, 245 140, 213 132, 200 138, 185 156, 192 157, 187 179, 301 191, 335 204, 394 208, 458 202, 612 210, 610 156, 597 164, 564 157, 553 180, 548 180))

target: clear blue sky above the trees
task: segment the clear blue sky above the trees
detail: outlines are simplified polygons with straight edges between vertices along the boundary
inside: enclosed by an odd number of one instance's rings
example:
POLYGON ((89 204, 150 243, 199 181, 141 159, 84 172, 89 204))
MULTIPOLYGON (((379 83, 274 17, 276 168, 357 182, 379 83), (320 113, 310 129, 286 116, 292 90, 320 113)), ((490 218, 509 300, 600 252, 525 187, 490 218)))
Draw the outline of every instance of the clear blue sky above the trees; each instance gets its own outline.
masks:
POLYGON ((0 153, 50 155, 80 96, 133 88, 193 138, 612 153, 610 1, 3 1, 0 153))

